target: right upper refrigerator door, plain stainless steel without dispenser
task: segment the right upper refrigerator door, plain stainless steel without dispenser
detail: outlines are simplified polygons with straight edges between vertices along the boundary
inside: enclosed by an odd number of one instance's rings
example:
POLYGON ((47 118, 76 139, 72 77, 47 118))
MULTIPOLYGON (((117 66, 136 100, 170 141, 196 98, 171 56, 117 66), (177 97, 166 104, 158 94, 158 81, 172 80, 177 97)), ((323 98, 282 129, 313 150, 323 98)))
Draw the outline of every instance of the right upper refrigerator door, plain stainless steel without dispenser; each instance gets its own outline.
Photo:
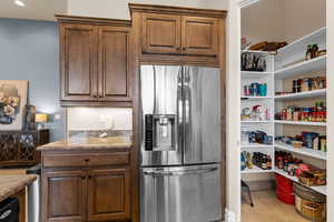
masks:
POLYGON ((184 68, 184 163, 220 161, 220 77, 216 68, 184 68))

